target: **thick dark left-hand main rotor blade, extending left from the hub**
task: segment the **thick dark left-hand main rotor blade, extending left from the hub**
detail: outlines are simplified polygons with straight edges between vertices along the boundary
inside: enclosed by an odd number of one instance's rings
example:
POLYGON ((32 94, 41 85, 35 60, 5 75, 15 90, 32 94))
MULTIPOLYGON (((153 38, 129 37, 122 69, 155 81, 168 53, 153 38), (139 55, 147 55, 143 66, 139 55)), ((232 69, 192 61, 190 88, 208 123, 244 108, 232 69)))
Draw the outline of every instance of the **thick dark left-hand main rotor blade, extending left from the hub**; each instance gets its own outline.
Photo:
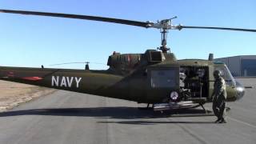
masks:
POLYGON ((126 19, 104 18, 104 17, 78 15, 78 14, 46 13, 46 12, 23 11, 23 10, 0 10, 0 12, 10 13, 10 14, 40 15, 40 16, 58 17, 58 18, 76 18, 76 19, 85 19, 85 20, 100 21, 100 22, 113 22, 113 23, 125 24, 130 26, 141 26, 146 28, 150 27, 150 24, 151 24, 151 22, 138 22, 138 21, 130 21, 126 19))

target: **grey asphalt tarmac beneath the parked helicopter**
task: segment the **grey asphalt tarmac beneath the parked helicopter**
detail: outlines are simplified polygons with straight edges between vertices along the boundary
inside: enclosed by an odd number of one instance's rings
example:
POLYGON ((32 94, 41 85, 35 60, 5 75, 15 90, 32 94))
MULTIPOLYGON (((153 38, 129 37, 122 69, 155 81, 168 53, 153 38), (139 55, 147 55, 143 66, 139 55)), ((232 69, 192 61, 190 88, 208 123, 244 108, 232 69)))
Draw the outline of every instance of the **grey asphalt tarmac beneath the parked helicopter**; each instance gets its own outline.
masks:
MULTIPOLYGON (((255 144, 256 78, 239 81, 253 88, 228 103, 226 124, 215 124, 214 116, 162 115, 138 110, 136 102, 58 90, 0 114, 0 143, 255 144)), ((183 113, 195 112, 202 110, 183 113)))

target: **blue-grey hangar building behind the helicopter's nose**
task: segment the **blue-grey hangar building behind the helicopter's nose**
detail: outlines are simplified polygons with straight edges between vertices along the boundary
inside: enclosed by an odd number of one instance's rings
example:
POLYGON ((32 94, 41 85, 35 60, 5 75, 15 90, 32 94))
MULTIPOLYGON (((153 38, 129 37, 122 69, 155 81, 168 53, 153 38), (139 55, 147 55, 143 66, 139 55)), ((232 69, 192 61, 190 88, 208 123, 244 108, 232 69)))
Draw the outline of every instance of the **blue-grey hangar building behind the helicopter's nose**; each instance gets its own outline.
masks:
POLYGON ((224 62, 234 77, 256 76, 256 55, 215 58, 214 61, 224 62))

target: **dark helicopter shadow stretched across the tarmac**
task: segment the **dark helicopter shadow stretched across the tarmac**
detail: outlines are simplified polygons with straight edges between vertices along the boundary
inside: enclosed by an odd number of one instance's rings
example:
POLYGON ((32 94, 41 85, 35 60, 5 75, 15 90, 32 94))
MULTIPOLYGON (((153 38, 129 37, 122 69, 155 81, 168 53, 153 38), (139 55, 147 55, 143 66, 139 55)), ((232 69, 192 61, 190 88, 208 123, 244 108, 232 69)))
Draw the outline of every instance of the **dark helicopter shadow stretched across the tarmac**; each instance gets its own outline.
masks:
POLYGON ((212 122, 165 122, 165 121, 151 121, 154 118, 172 118, 172 117, 198 117, 211 116, 205 115, 204 110, 190 109, 190 110, 175 110, 168 113, 154 112, 153 110, 138 110, 137 107, 88 107, 88 108, 46 108, 46 109, 32 109, 32 110, 11 110, 0 113, 1 117, 12 117, 21 115, 49 115, 49 116, 66 116, 66 117, 94 117, 94 118, 108 118, 107 121, 101 123, 119 123, 119 124, 161 124, 161 123, 212 123, 212 122), (110 122, 112 119, 122 119, 122 122, 110 122), (143 120, 143 118, 146 118, 143 120), (134 121, 138 119, 138 121, 134 121), (127 121, 128 120, 128 121, 127 121), (130 121, 132 120, 132 121, 130 121))

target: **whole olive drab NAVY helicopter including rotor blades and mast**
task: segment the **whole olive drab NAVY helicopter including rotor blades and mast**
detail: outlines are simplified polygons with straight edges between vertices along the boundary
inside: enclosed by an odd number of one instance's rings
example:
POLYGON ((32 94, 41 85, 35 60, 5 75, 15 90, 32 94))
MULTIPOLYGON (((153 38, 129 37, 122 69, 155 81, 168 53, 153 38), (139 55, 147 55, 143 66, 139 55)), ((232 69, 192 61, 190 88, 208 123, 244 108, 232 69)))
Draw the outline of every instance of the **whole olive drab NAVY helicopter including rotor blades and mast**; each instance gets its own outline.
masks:
POLYGON ((227 101, 243 97, 244 87, 236 82, 223 62, 214 62, 213 54, 207 60, 178 60, 166 46, 169 30, 212 29, 256 32, 256 30, 173 25, 174 18, 158 22, 138 22, 118 18, 103 18, 77 14, 58 14, 22 10, 0 10, 1 13, 31 14, 60 18, 113 22, 118 24, 155 28, 161 31, 162 45, 144 54, 114 52, 108 58, 108 70, 71 70, 0 66, 0 79, 35 86, 46 86, 78 93, 118 98, 152 104, 154 110, 174 110, 202 106, 211 102, 214 89, 214 70, 220 70, 226 80, 227 101))

